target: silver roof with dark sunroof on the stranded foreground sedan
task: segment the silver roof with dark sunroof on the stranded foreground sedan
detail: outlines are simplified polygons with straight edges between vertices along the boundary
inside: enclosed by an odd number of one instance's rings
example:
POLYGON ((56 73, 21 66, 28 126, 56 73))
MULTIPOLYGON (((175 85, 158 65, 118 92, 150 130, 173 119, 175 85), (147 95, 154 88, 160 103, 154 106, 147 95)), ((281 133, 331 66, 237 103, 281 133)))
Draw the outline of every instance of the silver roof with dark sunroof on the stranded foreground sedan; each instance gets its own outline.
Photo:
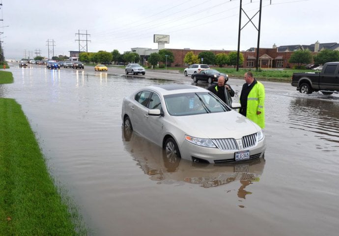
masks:
POLYGON ((187 92, 206 92, 206 89, 192 86, 192 85, 179 85, 179 84, 172 84, 172 85, 152 85, 143 88, 142 90, 150 89, 157 93, 168 95, 168 94, 175 94, 175 93, 187 93, 187 92))

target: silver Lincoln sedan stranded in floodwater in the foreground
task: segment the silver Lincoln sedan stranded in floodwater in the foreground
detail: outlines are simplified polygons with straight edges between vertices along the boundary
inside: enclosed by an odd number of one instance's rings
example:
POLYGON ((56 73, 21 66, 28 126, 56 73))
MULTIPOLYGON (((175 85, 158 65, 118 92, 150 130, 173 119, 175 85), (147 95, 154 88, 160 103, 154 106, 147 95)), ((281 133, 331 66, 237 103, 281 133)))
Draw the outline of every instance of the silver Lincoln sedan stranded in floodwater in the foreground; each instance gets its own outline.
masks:
POLYGON ((212 92, 191 85, 153 85, 127 96, 125 132, 193 162, 226 163, 259 158, 266 149, 261 128, 212 92))

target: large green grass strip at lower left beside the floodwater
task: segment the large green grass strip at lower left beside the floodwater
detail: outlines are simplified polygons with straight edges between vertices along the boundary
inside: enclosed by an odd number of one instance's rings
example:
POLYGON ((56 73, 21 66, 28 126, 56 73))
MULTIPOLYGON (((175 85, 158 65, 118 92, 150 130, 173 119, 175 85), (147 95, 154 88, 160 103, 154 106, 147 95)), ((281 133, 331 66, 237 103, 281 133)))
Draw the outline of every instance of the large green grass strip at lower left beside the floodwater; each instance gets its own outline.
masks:
POLYGON ((69 211, 64 203, 15 100, 0 98, 0 124, 0 235, 85 235, 74 220, 79 219, 77 210, 69 211))

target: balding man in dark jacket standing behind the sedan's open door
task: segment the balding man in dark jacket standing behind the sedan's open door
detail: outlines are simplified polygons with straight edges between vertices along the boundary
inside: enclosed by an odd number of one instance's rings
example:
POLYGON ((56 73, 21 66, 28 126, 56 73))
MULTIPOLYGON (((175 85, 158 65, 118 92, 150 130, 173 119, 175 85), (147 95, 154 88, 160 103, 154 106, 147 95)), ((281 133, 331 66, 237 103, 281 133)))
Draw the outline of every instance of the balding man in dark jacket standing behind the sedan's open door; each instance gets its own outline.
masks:
POLYGON ((232 102, 231 97, 234 97, 234 90, 228 84, 226 84, 227 81, 228 78, 226 79, 225 76, 221 75, 218 77, 218 83, 211 85, 207 89, 217 95, 228 106, 230 106, 232 102))

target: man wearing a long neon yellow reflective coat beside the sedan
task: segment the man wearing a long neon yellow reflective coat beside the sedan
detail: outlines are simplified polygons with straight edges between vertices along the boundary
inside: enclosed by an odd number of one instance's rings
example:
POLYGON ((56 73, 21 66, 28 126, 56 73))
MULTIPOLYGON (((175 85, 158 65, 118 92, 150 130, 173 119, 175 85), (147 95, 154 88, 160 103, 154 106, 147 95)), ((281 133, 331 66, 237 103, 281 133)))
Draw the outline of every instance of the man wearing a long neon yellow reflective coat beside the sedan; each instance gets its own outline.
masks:
POLYGON ((246 83, 243 85, 240 94, 241 108, 239 113, 251 119, 260 126, 265 127, 265 88, 263 84, 256 81, 252 72, 244 75, 246 83))

